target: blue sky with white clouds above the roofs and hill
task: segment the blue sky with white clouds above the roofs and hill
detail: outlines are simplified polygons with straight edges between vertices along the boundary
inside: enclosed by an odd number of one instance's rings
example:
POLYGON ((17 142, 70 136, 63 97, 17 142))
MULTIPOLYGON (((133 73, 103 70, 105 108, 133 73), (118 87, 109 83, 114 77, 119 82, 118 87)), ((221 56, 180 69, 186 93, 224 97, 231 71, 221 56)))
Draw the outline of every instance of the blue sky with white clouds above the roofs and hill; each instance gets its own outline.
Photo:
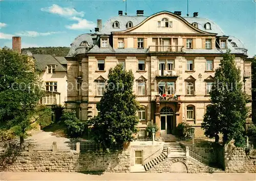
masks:
MULTIPOLYGON (((126 0, 127 15, 159 11, 187 14, 187 0, 126 0)), ((211 19, 226 35, 239 38, 256 54, 255 0, 188 0, 189 16, 211 19)), ((75 37, 90 33, 97 19, 106 20, 125 11, 123 0, 0 0, 0 47, 10 47, 12 36, 22 37, 22 48, 70 47, 75 37)))

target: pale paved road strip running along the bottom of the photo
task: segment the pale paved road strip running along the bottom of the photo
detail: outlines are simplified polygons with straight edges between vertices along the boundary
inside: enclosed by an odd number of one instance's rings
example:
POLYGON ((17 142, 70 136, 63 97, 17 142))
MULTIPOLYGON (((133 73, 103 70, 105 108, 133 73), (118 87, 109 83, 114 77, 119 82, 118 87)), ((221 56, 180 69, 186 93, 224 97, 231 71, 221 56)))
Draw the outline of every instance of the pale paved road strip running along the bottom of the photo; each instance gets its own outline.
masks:
POLYGON ((60 172, 0 172, 0 180, 256 180, 255 173, 60 173, 60 172))

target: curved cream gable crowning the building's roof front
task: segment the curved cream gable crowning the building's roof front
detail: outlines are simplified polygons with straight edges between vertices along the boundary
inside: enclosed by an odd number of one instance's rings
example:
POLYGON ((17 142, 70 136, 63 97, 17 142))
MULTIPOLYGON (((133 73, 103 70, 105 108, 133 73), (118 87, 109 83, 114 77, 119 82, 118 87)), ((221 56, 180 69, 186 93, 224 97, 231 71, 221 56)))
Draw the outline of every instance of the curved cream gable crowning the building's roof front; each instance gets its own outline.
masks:
POLYGON ((129 30, 125 30, 122 32, 130 32, 130 33, 205 33, 202 30, 199 30, 193 26, 191 26, 184 18, 175 15, 170 12, 160 12, 154 14, 144 21, 142 21, 139 25, 131 28, 129 30), (167 18, 168 22, 172 22, 172 27, 158 27, 158 21, 162 21, 163 18, 167 18))

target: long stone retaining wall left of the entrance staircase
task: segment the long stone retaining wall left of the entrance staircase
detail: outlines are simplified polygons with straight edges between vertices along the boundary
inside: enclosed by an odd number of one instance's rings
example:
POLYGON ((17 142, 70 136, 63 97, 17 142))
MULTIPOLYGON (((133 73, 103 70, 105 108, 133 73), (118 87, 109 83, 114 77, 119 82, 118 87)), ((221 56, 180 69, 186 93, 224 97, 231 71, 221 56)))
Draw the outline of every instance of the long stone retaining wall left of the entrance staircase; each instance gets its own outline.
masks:
POLYGON ((15 152, 0 155, 0 171, 130 172, 130 152, 15 152))

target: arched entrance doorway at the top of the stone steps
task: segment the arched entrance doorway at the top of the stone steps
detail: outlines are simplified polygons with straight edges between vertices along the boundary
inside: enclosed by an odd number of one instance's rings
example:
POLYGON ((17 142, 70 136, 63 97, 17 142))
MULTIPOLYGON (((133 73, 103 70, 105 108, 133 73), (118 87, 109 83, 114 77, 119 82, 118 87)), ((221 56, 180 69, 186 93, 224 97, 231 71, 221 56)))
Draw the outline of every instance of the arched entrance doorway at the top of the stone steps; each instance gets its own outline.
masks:
POLYGON ((174 132, 174 111, 170 107, 163 107, 160 110, 160 132, 161 134, 173 134, 174 132))

